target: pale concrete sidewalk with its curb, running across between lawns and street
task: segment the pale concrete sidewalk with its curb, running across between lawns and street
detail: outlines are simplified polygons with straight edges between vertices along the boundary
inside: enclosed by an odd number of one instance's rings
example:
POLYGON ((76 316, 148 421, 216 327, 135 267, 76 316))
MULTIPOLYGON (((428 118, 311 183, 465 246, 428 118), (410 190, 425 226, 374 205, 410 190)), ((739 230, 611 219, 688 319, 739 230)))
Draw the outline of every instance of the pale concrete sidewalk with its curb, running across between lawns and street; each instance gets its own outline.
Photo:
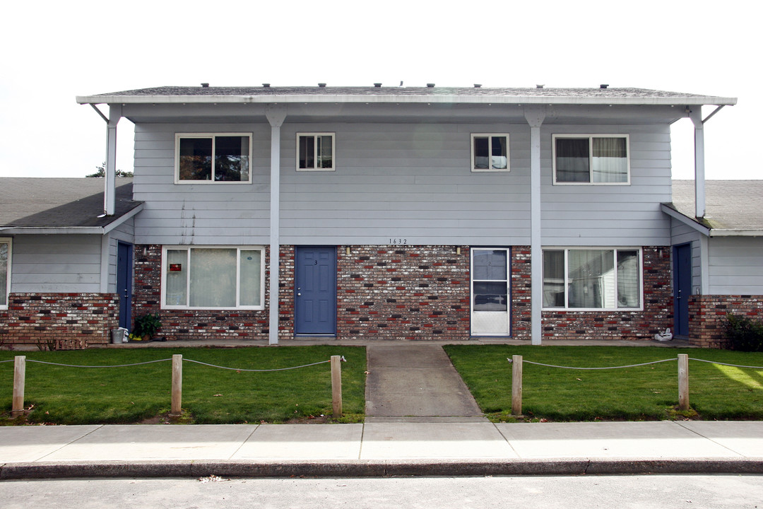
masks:
POLYGON ((763 474, 763 422, 0 427, 0 479, 763 474))

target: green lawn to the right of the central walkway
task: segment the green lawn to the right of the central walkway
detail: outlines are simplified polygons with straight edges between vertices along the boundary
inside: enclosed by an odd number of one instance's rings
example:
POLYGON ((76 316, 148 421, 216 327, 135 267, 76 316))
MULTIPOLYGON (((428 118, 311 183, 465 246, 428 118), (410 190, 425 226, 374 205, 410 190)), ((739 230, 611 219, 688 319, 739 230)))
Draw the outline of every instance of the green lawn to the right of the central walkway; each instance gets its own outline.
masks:
MULTIPOLYGON (((618 346, 449 345, 453 365, 491 420, 511 421, 511 364, 507 358, 559 366, 623 366, 690 358, 763 366, 763 353, 618 346)), ((689 361, 691 412, 678 406, 678 362, 581 371, 523 363, 523 414, 547 420, 763 420, 763 370, 689 361), (696 412, 696 414, 694 414, 696 412)))

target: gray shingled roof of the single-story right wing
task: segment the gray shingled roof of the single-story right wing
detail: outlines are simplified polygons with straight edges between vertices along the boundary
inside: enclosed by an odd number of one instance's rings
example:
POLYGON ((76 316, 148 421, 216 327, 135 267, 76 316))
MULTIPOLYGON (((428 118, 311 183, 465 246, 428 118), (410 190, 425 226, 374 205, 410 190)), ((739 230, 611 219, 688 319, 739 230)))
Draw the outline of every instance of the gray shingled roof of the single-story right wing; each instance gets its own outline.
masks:
MULTIPOLYGON (((694 217, 694 180, 673 181, 673 208, 694 217)), ((763 234, 763 180, 706 180, 705 217, 712 230, 763 234)))

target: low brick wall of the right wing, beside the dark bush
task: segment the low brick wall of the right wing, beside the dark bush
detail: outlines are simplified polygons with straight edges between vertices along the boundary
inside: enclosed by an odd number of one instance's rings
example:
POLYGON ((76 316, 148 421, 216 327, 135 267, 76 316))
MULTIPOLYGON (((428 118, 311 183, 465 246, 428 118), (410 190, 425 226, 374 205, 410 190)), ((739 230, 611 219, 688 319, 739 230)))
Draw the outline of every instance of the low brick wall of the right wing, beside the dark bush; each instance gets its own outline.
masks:
POLYGON ((692 295, 689 298, 691 344, 706 348, 728 346, 727 314, 763 321, 763 295, 692 295))

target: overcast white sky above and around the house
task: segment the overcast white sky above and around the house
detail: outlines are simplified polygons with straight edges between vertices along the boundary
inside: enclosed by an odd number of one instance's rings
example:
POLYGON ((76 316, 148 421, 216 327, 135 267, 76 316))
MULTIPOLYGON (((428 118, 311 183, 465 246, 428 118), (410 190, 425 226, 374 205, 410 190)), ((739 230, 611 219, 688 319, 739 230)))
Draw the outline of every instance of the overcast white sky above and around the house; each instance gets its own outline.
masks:
MULTIPOLYGON (((105 122, 76 95, 159 85, 638 87, 739 98, 705 127, 707 178, 760 179, 758 2, 11 2, 0 176, 85 176, 105 122)), ((713 108, 705 107, 707 116, 713 108)), ((132 169, 132 126, 118 169, 132 169)), ((674 178, 693 178, 690 121, 674 178)))

